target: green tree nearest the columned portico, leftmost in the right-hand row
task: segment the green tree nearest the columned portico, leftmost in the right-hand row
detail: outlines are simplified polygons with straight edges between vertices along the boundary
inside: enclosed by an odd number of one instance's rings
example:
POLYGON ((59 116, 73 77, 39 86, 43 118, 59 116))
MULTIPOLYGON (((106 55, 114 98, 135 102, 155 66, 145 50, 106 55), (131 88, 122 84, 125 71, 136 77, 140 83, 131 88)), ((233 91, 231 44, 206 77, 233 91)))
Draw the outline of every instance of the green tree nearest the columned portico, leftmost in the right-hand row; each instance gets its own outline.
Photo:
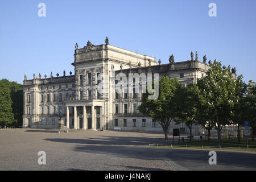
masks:
POLYGON ((177 78, 163 76, 159 81, 159 97, 148 99, 148 92, 142 96, 142 104, 138 107, 142 114, 155 119, 164 131, 165 143, 168 144, 168 127, 177 115, 177 100, 175 95, 180 92, 182 85, 177 78))

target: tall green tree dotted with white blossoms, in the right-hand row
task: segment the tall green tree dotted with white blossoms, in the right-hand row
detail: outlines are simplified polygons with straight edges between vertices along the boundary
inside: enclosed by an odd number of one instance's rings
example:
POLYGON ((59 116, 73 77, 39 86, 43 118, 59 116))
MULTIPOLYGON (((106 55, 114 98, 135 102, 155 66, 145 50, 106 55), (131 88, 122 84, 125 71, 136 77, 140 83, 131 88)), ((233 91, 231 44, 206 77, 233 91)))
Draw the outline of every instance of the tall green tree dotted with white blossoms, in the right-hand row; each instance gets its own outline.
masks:
POLYGON ((221 68, 221 63, 214 61, 204 78, 197 81, 201 104, 209 112, 209 121, 213 122, 218 132, 218 146, 221 145, 221 129, 230 125, 234 105, 234 77, 230 68, 221 68))

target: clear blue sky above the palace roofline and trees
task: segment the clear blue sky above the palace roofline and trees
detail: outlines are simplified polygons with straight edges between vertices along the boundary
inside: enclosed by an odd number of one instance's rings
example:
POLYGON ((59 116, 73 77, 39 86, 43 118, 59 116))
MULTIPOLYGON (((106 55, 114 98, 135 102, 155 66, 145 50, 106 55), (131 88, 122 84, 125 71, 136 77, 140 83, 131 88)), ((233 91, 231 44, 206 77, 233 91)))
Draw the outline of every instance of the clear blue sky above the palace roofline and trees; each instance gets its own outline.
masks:
MULTIPOLYGON (((75 43, 105 44, 138 51, 168 63, 217 59, 256 81, 256 1, 118 0, 0 1, 0 79, 23 84, 24 74, 42 77, 73 71, 75 43), (46 17, 38 4, 46 4, 46 17), (217 17, 210 17, 209 3, 217 17)), ((208 62, 207 60, 207 62, 208 62)))

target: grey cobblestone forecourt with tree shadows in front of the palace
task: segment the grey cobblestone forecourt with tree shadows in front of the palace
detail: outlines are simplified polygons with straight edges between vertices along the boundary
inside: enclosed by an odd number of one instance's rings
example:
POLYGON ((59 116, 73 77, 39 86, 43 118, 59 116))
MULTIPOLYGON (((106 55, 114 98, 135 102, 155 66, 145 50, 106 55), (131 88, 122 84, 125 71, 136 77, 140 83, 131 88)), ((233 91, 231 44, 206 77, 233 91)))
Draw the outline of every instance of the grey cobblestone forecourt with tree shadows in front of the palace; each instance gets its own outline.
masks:
POLYGON ((121 131, 49 133, 43 130, 0 130, 0 170, 229 170, 256 169, 256 154, 148 147, 163 143, 163 134, 121 131), (46 165, 38 152, 46 152, 46 165))

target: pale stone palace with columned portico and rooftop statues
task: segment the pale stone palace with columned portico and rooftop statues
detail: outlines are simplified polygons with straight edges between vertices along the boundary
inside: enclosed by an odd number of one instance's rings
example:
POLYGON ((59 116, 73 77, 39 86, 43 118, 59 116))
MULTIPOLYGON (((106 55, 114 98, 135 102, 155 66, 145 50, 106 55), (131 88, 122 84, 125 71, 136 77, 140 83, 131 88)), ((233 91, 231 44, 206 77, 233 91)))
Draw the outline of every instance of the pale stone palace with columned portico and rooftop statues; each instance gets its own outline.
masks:
MULTIPOLYGON (((41 78, 35 76, 23 81, 24 114, 23 127, 51 129, 59 127, 60 112, 63 115, 67 129, 82 130, 130 130, 130 131, 162 131, 162 127, 152 118, 140 114, 138 106, 141 104, 142 93, 115 92, 116 81, 113 76, 118 73, 125 75, 144 73, 158 73, 162 76, 178 78, 183 86, 195 83, 203 77, 209 65, 196 59, 176 62, 170 56, 170 64, 156 63, 156 58, 141 55, 136 52, 115 47, 109 44, 94 46, 88 41, 83 48, 75 46, 75 60, 71 63, 75 69, 63 76, 41 78), (100 92, 98 89, 104 92, 100 92)), ((131 85, 140 85, 140 81, 133 79, 131 85)), ((170 125, 173 128, 186 131, 185 125, 170 125)), ((201 127, 194 126, 193 132, 200 133, 201 127)))

